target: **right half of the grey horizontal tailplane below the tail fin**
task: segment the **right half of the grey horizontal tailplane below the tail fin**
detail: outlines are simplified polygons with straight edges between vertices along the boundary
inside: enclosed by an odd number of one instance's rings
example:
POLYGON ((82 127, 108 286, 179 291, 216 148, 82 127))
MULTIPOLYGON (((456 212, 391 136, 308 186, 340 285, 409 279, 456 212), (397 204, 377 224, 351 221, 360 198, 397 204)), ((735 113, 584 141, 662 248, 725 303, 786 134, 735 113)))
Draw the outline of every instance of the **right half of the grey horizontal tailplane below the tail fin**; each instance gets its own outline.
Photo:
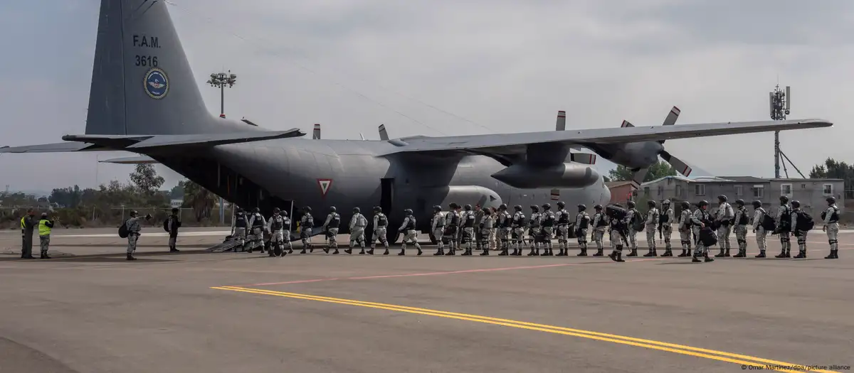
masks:
POLYGON ((162 146, 217 146, 225 144, 239 144, 242 142, 266 141, 286 139, 306 135, 300 129, 289 129, 286 131, 264 131, 264 132, 237 132, 232 134, 205 134, 205 135, 157 135, 143 141, 139 141, 127 149, 146 149, 162 146))

